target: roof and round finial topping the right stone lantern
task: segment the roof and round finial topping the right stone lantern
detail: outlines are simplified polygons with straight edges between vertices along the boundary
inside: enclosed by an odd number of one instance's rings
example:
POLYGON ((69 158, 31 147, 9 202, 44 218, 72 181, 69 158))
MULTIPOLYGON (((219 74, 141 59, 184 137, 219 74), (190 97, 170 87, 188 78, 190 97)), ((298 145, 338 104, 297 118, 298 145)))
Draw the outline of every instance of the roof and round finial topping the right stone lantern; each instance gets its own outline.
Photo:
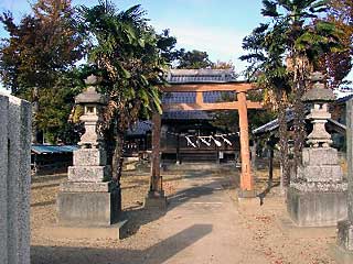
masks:
POLYGON ((324 77, 321 73, 315 72, 311 75, 313 86, 301 98, 304 102, 330 102, 335 100, 335 96, 331 89, 327 89, 323 84, 324 77))

